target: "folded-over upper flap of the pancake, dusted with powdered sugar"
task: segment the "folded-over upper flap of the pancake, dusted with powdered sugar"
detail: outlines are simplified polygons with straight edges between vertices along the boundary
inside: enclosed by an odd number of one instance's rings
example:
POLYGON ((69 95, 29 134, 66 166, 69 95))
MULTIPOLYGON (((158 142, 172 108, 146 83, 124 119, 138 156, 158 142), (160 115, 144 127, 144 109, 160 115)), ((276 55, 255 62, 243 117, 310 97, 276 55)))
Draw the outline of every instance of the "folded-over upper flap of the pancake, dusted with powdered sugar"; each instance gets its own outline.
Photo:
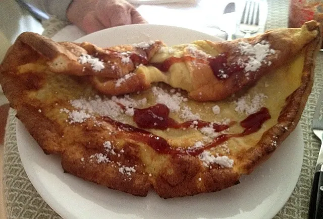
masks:
POLYGON ((53 72, 91 76, 103 94, 129 94, 164 82, 187 91, 190 99, 217 101, 282 66, 315 39, 315 28, 309 22, 233 42, 200 40, 173 47, 151 41, 104 49, 90 43, 57 43, 30 33, 18 40, 48 59, 53 72))

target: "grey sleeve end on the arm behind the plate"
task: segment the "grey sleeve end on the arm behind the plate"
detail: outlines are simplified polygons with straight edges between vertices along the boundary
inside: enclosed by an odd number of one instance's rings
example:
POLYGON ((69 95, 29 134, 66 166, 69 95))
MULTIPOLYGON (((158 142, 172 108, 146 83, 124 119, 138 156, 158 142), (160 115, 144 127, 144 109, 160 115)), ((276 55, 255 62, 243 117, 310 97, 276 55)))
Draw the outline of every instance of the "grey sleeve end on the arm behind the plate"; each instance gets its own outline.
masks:
POLYGON ((56 15, 60 20, 68 21, 67 9, 72 0, 23 0, 24 2, 49 14, 56 15))

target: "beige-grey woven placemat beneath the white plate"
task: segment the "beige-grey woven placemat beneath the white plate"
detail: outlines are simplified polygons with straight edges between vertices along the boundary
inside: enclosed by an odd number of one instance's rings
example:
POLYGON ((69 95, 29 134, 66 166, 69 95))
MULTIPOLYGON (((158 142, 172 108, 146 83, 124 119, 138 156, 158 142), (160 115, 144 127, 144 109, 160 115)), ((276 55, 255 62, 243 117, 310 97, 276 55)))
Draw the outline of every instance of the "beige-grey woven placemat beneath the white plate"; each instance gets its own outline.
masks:
MULTIPOLYGON (((267 2, 268 18, 266 29, 287 27, 289 1, 268 0, 267 2)), ((67 23, 52 18, 44 24, 45 31, 43 35, 52 37, 66 25, 67 23)), ((274 217, 275 219, 307 218, 311 181, 320 145, 319 140, 312 133, 311 120, 317 97, 323 86, 323 63, 320 62, 322 58, 323 54, 320 53, 316 61, 315 82, 312 93, 300 121, 305 143, 301 174, 291 197, 274 217)), ((8 219, 61 218, 39 196, 24 171, 17 148, 16 118, 15 110, 13 109, 10 109, 6 127, 4 188, 8 219)))

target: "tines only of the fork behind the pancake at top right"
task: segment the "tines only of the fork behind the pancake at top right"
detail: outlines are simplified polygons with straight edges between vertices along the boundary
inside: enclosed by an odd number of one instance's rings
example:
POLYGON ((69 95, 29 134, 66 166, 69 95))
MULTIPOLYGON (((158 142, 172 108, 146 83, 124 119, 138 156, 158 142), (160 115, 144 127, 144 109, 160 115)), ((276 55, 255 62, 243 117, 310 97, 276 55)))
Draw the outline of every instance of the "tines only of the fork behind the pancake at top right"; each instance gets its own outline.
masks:
POLYGON ((241 24, 259 25, 259 3, 246 1, 243 9, 241 24))

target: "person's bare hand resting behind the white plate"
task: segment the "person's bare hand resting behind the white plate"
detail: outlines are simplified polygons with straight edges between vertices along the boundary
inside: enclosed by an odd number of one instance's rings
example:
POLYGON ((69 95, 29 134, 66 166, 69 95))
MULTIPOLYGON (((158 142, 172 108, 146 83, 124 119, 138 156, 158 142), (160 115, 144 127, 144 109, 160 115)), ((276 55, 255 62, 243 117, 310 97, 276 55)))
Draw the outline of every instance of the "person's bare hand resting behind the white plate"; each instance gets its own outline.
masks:
POLYGON ((127 24, 147 23, 125 0, 74 0, 67 18, 86 33, 127 24))

